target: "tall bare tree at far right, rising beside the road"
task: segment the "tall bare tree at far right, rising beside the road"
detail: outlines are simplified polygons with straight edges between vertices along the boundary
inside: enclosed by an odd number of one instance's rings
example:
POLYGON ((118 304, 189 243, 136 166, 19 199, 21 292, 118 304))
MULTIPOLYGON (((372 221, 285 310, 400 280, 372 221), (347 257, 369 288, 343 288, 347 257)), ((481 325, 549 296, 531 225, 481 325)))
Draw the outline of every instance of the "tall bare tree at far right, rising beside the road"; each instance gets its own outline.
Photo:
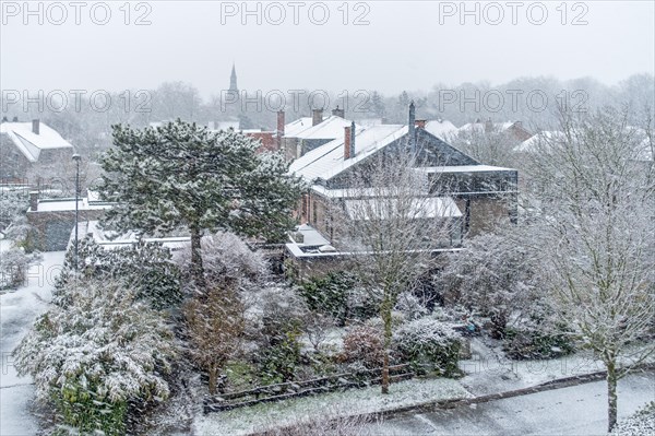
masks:
POLYGON ((654 168, 643 153, 652 135, 628 119, 616 109, 562 114, 563 134, 539 144, 529 174, 535 249, 558 315, 607 368, 609 431, 617 381, 655 350, 640 342, 655 316, 654 168))

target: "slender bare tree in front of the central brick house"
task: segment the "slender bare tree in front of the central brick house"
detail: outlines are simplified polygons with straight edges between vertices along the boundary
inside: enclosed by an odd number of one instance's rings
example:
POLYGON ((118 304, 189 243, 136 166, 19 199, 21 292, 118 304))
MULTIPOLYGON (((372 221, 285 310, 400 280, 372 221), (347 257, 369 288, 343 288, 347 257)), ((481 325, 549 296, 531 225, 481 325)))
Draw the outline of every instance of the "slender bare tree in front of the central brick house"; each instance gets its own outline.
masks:
POLYGON ((392 310, 398 295, 430 269, 434 249, 450 246, 461 232, 458 209, 448 197, 436 197, 434 182, 414 169, 403 151, 369 157, 365 169, 352 175, 340 244, 369 296, 379 303, 384 326, 382 393, 389 393, 392 310))

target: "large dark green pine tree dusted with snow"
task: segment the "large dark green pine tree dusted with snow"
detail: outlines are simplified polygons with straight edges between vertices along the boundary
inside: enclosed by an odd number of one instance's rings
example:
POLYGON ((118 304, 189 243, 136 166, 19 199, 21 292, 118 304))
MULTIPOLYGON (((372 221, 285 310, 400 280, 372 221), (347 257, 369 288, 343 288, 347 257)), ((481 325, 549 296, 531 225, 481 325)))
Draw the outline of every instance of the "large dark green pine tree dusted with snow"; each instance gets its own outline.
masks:
POLYGON ((287 174, 282 154, 255 154, 258 141, 181 120, 112 129, 115 146, 102 161, 100 195, 117 205, 104 224, 150 235, 188 229, 195 284, 204 285, 200 240, 205 231, 273 241, 293 225, 300 182, 287 174))

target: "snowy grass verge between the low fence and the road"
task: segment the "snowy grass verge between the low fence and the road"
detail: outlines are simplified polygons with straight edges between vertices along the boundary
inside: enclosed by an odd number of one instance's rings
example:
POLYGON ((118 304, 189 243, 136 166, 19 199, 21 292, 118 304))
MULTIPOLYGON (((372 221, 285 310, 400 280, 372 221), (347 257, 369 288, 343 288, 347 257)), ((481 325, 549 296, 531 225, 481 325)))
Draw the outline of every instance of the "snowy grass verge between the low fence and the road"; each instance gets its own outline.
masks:
POLYGON ((324 419, 327 413, 354 415, 419 404, 450 398, 468 398, 456 381, 448 378, 414 379, 391 385, 390 393, 380 393, 380 386, 330 392, 275 403, 262 403, 226 412, 199 414, 193 423, 194 435, 243 435, 271 426, 285 426, 298 421, 324 419), (337 408, 338 410, 335 410, 337 408))

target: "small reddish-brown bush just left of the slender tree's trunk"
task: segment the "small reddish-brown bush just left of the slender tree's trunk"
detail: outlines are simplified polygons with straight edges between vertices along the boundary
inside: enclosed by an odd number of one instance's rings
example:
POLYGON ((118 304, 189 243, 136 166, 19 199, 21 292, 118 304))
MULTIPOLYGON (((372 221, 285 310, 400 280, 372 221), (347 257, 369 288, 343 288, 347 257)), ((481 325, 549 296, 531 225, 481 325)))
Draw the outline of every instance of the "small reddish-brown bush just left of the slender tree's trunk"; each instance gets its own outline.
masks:
POLYGON ((384 344, 381 329, 362 325, 350 329, 344 337, 344 356, 350 364, 367 368, 382 366, 384 344))

